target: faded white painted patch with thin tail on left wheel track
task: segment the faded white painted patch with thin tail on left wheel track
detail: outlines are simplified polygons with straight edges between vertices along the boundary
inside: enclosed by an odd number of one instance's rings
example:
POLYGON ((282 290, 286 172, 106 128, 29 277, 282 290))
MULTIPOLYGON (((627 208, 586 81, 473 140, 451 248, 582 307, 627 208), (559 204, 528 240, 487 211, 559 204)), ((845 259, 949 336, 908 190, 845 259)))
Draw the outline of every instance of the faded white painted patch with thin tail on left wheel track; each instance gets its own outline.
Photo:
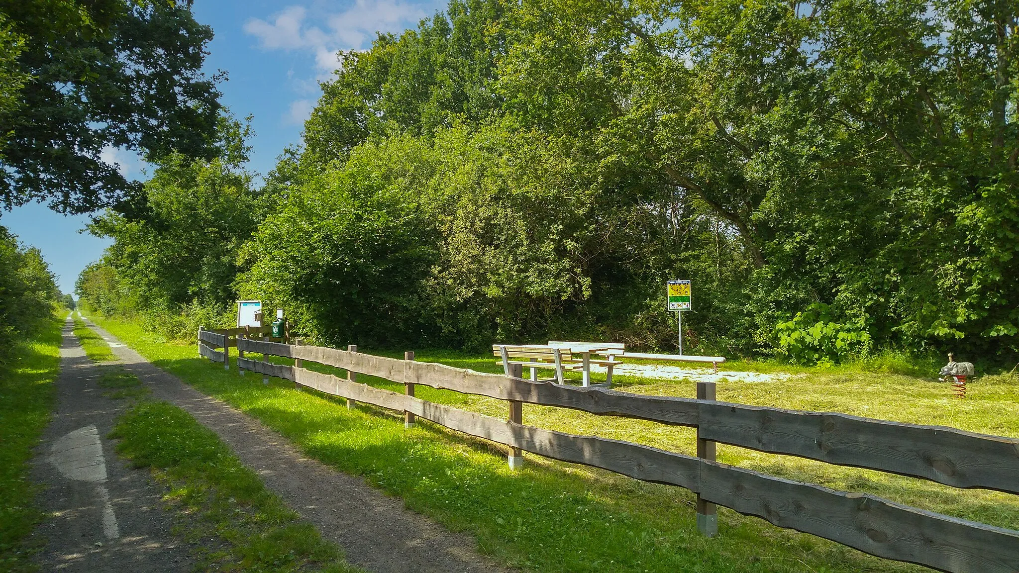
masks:
POLYGON ((50 448, 49 461, 64 477, 97 484, 96 490, 103 508, 103 534, 107 539, 120 536, 117 518, 110 504, 106 482, 106 460, 99 429, 88 425, 64 434, 50 448))

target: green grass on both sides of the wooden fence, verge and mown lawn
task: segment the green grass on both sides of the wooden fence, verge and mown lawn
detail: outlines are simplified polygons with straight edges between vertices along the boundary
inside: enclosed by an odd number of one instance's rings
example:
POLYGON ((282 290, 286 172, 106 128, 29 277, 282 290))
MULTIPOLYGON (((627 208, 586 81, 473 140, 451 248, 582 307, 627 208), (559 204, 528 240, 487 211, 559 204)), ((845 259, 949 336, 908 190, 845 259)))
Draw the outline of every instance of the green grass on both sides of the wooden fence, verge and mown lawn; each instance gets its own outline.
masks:
MULTIPOLYGON (((694 497, 665 485, 527 455, 527 467, 511 472, 503 449, 429 422, 405 430, 395 413, 292 388, 261 376, 238 376, 197 357, 194 346, 166 344, 136 324, 102 321, 104 327, 156 365, 261 419, 307 455, 366 476, 407 505, 453 530, 476 536, 482 552, 532 571, 701 572, 899 572, 923 568, 883 561, 811 535, 719 511, 720 535, 697 535, 694 497)), ((372 352, 368 350, 368 352, 372 352)), ((382 353, 400 356, 399 353, 382 353)), ((257 358, 257 357, 256 357, 257 358)), ((453 352, 418 352, 417 359, 498 371, 494 359, 453 352)), ((328 368, 322 368, 329 370, 328 368)), ((371 377, 373 385, 401 389, 371 377)), ((967 400, 951 398, 947 384, 862 368, 801 369, 783 381, 718 383, 718 399, 802 410, 839 411, 905 422, 945 424, 972 431, 1019 436, 1019 390, 1011 376, 977 378, 967 400)), ((624 392, 694 396, 688 380, 615 377, 624 392)), ((418 396, 459 408, 505 416, 503 402, 418 387, 418 396)), ((582 412, 524 407, 524 423, 579 434, 694 452, 694 433, 677 428, 582 412)), ((919 479, 841 468, 792 457, 718 447, 723 462, 821 483, 868 491, 901 503, 1019 528, 1019 499, 982 490, 958 490, 919 479)))

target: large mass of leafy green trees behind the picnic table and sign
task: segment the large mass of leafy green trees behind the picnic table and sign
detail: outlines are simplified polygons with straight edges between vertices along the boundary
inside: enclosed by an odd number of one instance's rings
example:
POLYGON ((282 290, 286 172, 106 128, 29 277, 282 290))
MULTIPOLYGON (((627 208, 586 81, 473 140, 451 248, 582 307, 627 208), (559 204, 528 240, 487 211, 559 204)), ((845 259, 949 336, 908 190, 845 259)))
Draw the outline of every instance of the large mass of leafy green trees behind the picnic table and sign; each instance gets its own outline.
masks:
POLYGON ((1017 11, 452 0, 341 54, 221 292, 335 344, 660 348, 684 277, 705 352, 1015 357, 1017 11))

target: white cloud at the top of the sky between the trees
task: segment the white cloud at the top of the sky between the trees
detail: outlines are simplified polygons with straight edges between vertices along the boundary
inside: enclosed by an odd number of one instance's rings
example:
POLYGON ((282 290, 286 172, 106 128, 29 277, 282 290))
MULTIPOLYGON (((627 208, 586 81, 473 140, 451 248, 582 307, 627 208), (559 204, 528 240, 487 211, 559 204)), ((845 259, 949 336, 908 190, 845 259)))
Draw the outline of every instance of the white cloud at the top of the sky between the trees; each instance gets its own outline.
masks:
POLYGON ((287 6, 269 21, 249 19, 245 32, 266 50, 307 51, 318 70, 328 74, 338 65, 339 50, 365 49, 376 32, 399 32, 425 15, 424 5, 404 0, 355 0, 338 12, 309 14, 304 6, 287 6))

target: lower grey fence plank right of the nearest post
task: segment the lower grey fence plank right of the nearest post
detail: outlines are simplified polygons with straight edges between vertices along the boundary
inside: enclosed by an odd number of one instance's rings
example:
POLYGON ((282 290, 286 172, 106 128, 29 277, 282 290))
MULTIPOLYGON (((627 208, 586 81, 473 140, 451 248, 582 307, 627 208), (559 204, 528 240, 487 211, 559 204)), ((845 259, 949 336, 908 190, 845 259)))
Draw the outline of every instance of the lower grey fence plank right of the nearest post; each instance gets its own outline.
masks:
POLYGON ((1019 531, 703 462, 700 494, 780 527, 953 573, 1019 571, 1019 531))

